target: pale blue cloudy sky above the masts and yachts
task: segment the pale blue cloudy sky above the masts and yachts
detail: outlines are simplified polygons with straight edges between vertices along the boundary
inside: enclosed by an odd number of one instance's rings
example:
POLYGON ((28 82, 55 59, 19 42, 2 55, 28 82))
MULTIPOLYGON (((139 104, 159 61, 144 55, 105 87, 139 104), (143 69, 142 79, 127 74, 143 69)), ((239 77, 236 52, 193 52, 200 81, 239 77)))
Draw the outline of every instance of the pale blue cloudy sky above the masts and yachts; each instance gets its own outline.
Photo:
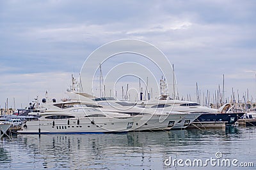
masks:
MULTIPOLYGON (((161 50, 174 66, 180 98, 195 101, 196 83, 202 96, 207 90, 213 95, 219 85, 222 90, 224 74, 226 97, 233 88, 241 99, 248 89, 249 100, 255 100, 255 9, 254 0, 0 0, 0 108, 7 99, 9 107, 24 108, 46 91, 57 100, 66 97, 71 74, 78 77, 93 51, 118 39, 138 39, 161 50)), ((103 76, 125 62, 154 67, 122 54, 102 64, 103 76)), ((119 70, 131 69, 128 65, 119 70)), ((99 82, 99 75, 95 78, 99 82)), ((119 81, 116 89, 127 83, 138 87, 138 78, 119 81)))

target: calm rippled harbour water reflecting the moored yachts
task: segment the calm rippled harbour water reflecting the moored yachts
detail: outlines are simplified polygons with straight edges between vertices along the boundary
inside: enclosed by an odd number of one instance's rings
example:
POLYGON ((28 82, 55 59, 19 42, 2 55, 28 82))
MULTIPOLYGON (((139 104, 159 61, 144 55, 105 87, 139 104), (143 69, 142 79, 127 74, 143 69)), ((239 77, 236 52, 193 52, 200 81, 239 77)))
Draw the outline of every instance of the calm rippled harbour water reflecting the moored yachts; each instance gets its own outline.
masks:
MULTIPOLYGON (((189 162, 187 162, 189 164, 189 162)), ((184 162, 183 162, 184 164, 184 162)), ((17 135, 0 141, 0 169, 256 169, 256 128, 17 135), (168 164, 168 159, 253 162, 254 167, 168 164)))

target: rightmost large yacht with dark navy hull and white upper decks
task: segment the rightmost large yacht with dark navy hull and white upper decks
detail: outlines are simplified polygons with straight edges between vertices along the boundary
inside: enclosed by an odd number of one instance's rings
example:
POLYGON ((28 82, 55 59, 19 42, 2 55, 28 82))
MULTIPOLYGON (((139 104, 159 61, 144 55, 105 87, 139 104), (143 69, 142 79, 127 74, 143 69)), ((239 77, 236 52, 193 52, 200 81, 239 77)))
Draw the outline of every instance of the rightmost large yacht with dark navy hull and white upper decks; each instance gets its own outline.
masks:
MULTIPOLYGON (((188 120, 182 120, 184 122, 226 122, 226 124, 234 124, 238 118, 241 118, 244 113, 229 113, 230 104, 224 104, 221 108, 213 109, 200 104, 193 103, 190 101, 180 101, 172 99, 168 94, 164 93, 166 88, 165 80, 161 80, 161 94, 156 99, 150 99, 148 101, 140 101, 137 103, 139 106, 147 108, 156 108, 157 110, 164 111, 180 111, 190 113, 191 115, 196 114, 194 117, 188 117, 188 120)), ((185 117, 186 118, 186 117, 185 117)), ((185 119, 184 118, 184 119, 185 119)), ((182 122, 183 124, 183 122, 182 122)), ((180 128, 180 124, 177 124, 175 128, 180 128)))

